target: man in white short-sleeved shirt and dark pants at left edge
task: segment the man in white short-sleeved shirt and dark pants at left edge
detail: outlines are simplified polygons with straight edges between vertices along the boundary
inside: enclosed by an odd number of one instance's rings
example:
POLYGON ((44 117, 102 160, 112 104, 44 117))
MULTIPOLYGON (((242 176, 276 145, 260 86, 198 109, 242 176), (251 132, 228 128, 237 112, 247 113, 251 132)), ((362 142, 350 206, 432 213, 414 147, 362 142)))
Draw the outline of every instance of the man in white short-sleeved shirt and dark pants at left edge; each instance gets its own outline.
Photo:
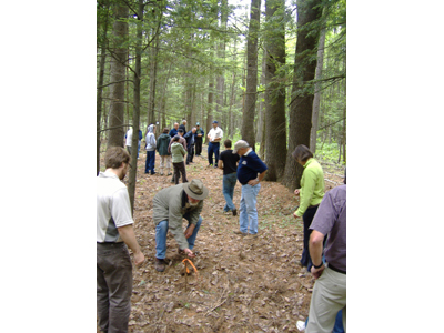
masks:
POLYGON ((144 261, 132 228, 130 198, 122 183, 130 159, 123 148, 111 147, 104 155, 107 170, 97 178, 97 309, 100 331, 108 333, 128 332, 132 293, 128 248, 135 265, 144 261))

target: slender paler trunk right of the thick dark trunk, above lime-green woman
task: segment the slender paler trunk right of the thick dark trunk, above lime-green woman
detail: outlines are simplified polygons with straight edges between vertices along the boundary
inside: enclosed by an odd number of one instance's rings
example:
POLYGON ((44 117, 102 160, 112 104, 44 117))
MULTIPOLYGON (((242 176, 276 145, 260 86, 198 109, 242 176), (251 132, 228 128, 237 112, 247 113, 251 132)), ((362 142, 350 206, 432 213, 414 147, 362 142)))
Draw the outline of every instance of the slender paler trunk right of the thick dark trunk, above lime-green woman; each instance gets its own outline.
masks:
MULTIPOLYGON (((321 80, 322 78, 322 67, 324 63, 324 47, 325 47, 325 29, 322 29, 317 46, 317 64, 315 74, 316 80, 321 80)), ((320 107, 321 107, 321 83, 316 82, 314 84, 312 132, 310 135, 310 150, 312 151, 313 154, 316 152, 320 107)))

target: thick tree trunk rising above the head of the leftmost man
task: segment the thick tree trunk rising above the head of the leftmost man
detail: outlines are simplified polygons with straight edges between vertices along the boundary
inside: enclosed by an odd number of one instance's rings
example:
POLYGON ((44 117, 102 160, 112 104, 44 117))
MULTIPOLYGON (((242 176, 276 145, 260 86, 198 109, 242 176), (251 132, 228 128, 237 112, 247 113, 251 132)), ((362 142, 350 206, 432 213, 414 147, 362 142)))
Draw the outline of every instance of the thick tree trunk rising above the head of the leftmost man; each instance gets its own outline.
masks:
POLYGON ((115 4, 115 21, 113 24, 114 49, 111 59, 111 110, 109 114, 110 134, 108 137, 108 149, 111 147, 123 147, 123 111, 124 111, 124 88, 125 88, 125 65, 127 47, 124 42, 128 38, 128 7, 115 4))

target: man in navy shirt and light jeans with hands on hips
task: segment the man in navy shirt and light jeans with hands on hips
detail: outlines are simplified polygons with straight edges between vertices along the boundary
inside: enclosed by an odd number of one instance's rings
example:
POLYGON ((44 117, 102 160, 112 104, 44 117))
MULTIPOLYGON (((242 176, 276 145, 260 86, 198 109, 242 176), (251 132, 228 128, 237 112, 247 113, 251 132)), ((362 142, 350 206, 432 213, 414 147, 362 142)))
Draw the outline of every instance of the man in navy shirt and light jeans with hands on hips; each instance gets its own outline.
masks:
POLYGON ((238 167, 238 180, 242 184, 242 194, 239 209, 240 230, 234 231, 234 233, 246 235, 250 231, 245 239, 253 239, 258 235, 256 196, 261 189, 260 182, 269 168, 244 140, 234 143, 233 154, 235 153, 241 157, 238 167))

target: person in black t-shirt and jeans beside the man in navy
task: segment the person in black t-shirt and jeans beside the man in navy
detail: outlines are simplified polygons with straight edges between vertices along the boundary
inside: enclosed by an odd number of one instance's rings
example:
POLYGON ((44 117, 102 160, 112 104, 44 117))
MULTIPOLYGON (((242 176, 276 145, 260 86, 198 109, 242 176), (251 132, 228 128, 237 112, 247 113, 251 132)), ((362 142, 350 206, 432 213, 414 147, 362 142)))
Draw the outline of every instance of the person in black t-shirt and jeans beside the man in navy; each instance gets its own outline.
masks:
POLYGON ((233 154, 230 139, 226 139, 223 142, 223 145, 225 147, 225 150, 221 152, 218 162, 219 169, 223 170, 222 193, 226 201, 223 211, 224 212, 232 211, 233 216, 235 216, 238 214, 238 211, 233 203, 233 195, 234 195, 234 186, 238 181, 236 171, 240 157, 239 154, 233 154))

